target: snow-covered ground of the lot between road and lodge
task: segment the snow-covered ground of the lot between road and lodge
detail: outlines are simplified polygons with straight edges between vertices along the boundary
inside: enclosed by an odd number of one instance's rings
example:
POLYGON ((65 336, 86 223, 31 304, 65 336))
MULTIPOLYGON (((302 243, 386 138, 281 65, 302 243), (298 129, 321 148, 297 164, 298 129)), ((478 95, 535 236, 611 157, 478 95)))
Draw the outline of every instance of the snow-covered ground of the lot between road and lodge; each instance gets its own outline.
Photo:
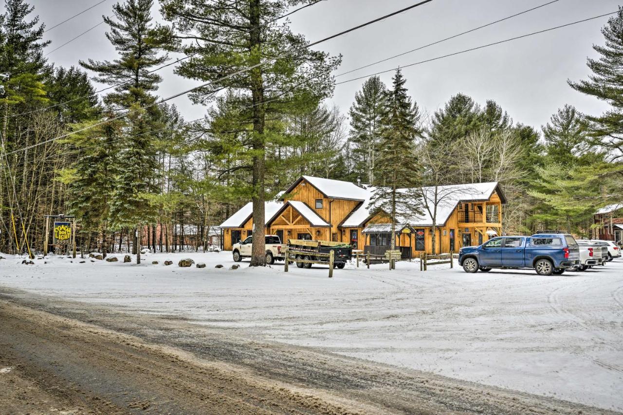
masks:
MULTIPOLYGON (((357 269, 278 263, 231 270, 230 252, 148 254, 143 264, 2 255, 2 286, 176 314, 237 334, 313 346, 623 411, 623 260, 540 277, 417 262, 357 269), (204 269, 179 268, 190 257, 204 269), (166 259, 174 264, 164 266, 166 259), (158 265, 151 261, 158 260, 158 265), (222 264, 224 268, 215 269, 222 264)), ((120 260, 123 255, 117 255, 120 260)))

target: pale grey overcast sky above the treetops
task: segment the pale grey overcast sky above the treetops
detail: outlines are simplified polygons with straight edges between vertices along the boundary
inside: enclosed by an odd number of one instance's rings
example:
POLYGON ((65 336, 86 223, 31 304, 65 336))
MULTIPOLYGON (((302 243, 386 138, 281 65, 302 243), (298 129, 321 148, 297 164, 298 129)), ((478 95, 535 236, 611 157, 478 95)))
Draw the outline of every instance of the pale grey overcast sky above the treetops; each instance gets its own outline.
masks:
MULTIPOLYGON (((96 4, 98 0, 30 0, 47 27, 61 22, 78 11, 96 4)), ((108 0, 81 16, 45 34, 52 44, 48 50, 63 44, 101 21, 102 14, 111 14, 115 0, 108 0)), ((290 17, 294 31, 316 41, 365 21, 383 16, 414 0, 326 0, 290 17)), ((384 59, 421 45, 452 36, 473 27, 487 24, 516 12, 544 4, 548 0, 434 0, 424 6, 390 17, 372 26, 359 29, 318 45, 330 54, 343 55, 336 72, 348 70, 384 59)), ((383 64, 337 77, 351 79, 373 74, 399 65, 408 65, 440 55, 501 41, 509 37, 578 21, 616 11, 613 0, 559 0, 548 6, 508 21, 460 36, 451 41, 392 59, 383 64)), ((158 7, 155 13, 159 19, 158 7)), ((593 44, 602 44, 600 29, 607 17, 576 24, 556 31, 506 42, 466 54, 436 60, 404 69, 409 93, 421 108, 429 113, 444 105, 455 93, 470 95, 476 102, 493 99, 515 122, 540 128, 552 113, 565 103, 582 112, 601 113, 604 103, 572 90, 567 80, 586 79, 589 70, 586 57, 595 57, 593 44)), ((98 26, 74 42, 52 52, 48 58, 57 65, 77 65, 78 59, 113 59, 115 51, 104 36, 108 27, 98 26)), ((166 97, 196 85, 165 69, 164 82, 159 90, 166 97)), ((381 75, 391 82, 391 74, 381 75)), ((333 102, 347 114, 354 93, 363 80, 338 85, 333 102)), ((188 98, 174 100, 186 120, 199 118, 205 108, 193 105, 188 98)))

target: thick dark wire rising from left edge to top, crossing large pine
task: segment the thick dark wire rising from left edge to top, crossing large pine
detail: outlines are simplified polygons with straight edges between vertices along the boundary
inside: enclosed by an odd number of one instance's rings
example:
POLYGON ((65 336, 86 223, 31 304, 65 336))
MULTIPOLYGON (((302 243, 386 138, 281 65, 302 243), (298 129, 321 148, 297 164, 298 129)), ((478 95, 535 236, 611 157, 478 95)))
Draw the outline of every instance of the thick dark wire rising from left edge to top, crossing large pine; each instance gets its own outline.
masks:
POLYGON ((426 4, 426 3, 429 3, 429 2, 432 2, 432 1, 434 1, 434 0, 424 0, 424 1, 421 1, 421 2, 417 2, 416 4, 412 4, 409 7, 404 7, 403 9, 400 9, 399 11, 395 11, 395 12, 392 12, 390 14, 386 14, 385 16, 378 17, 377 19, 365 22, 363 24, 359 24, 358 26, 351 27, 351 29, 346 29, 345 31, 341 31, 341 32, 339 32, 337 34, 325 37, 324 39, 320 39, 319 41, 316 41, 316 42, 313 42, 313 43, 309 43, 309 44, 307 44, 307 45, 305 45, 303 47, 299 47, 298 49, 294 49, 294 50, 291 50, 290 52, 285 52, 284 54, 277 55, 277 57, 273 57, 271 59, 265 60, 264 62, 259 62, 259 64, 255 64, 255 65, 251 65, 249 67, 245 67, 243 69, 239 69, 239 70, 237 70, 235 72, 232 72, 231 74, 227 74, 224 77, 221 77, 221 78, 216 79, 214 81, 202 83, 201 85, 199 85, 197 87, 193 87, 193 88, 190 88, 188 90, 185 90, 185 91, 182 91, 182 92, 178 92, 178 93, 176 93, 174 95, 171 95, 168 98, 163 98, 161 100, 153 102, 150 105, 145 105, 144 107, 136 108, 136 110, 128 111, 126 113, 118 115, 117 117, 113 117, 113 118, 110 118, 108 120, 104 120, 104 121, 101 121, 101 122, 98 122, 98 123, 95 123, 95 124, 92 124, 92 125, 89 125, 89 126, 85 126, 84 128, 80 128, 79 130, 71 131, 71 132, 66 133, 64 135, 60 135, 60 136, 57 136, 55 138, 50 138, 49 140, 41 141, 40 143, 33 144, 33 145, 30 145, 30 146, 26 146, 26 147, 21 148, 19 150, 11 151, 11 153, 7 153, 7 154, 8 155, 12 155, 14 153, 18 153, 19 151, 29 150, 30 148, 34 148, 34 147, 37 147, 37 146, 40 146, 40 145, 44 145, 45 143, 50 143, 51 141, 60 140, 61 138, 65 138, 67 136, 74 135, 75 133, 80 133, 82 131, 90 130, 91 128, 94 128, 94 127, 96 127, 98 125, 102 125, 102 124, 109 123, 109 122, 112 122, 112 121, 115 121, 115 120, 119 120, 120 118, 125 118, 128 115, 130 115, 130 114, 133 114, 133 113, 145 110, 146 108, 151 108, 151 107, 154 107, 155 105, 159 105, 161 103, 173 100, 174 98, 181 97, 181 96, 186 95, 188 93, 194 92, 194 91, 196 91, 198 89, 205 88, 205 87, 207 87, 209 85, 212 85, 214 83, 221 82, 223 80, 229 79, 231 77, 234 77, 235 75, 240 75, 240 74, 243 74, 244 72, 249 72, 249 70, 255 69, 255 68, 260 67, 260 66, 264 66, 266 64, 273 63, 273 62, 277 61, 278 59, 282 59, 283 57, 287 57, 288 55, 292 55, 292 54, 295 54, 297 52, 302 52, 303 50, 309 49, 310 47, 312 47, 314 45, 318 45, 318 44, 321 44, 323 42, 330 41, 331 39, 335 39, 338 36, 343 36, 343 35, 345 35, 347 33, 356 31, 358 29, 361 29, 363 27, 369 26, 369 25, 374 24, 376 22, 379 22, 381 20, 387 19, 388 17, 395 16, 396 14, 402 13, 402 12, 410 10, 410 9, 413 9, 414 7, 417 7, 417 6, 422 6, 423 4, 426 4))

